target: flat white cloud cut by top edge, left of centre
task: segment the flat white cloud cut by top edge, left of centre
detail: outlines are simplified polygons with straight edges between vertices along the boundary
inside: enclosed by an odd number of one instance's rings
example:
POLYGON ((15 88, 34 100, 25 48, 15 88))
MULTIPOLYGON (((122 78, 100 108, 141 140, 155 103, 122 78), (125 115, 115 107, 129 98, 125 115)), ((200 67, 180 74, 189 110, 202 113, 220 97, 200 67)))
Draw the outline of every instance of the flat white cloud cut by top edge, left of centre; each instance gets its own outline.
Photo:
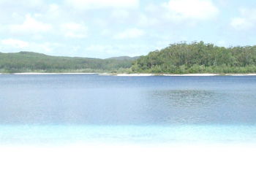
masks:
POLYGON ((139 0, 66 0, 66 3, 77 9, 134 8, 138 7, 139 0))

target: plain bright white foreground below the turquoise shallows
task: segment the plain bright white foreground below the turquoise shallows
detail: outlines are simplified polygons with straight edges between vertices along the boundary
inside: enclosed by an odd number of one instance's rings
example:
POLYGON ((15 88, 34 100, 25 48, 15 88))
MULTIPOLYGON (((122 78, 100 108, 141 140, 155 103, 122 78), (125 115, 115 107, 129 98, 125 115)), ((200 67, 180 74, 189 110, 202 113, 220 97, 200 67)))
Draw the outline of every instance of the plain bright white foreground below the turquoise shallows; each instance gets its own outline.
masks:
POLYGON ((256 147, 0 147, 4 192, 255 192, 256 147))

